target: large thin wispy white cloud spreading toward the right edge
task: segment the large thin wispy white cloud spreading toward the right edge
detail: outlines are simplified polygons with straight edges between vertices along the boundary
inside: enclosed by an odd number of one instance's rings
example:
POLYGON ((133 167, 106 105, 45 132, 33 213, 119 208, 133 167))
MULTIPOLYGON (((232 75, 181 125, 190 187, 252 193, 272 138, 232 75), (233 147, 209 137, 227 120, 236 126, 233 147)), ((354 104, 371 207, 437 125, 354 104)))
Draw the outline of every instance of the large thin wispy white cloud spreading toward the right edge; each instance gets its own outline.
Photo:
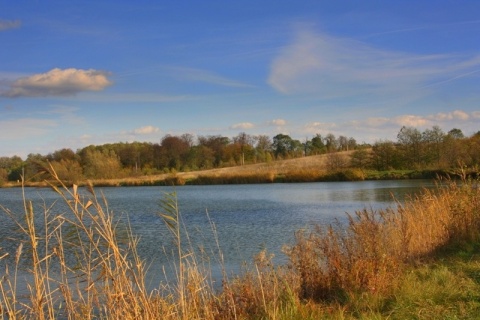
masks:
POLYGON ((325 98, 405 94, 471 76, 478 68, 480 55, 395 52, 302 30, 273 61, 268 83, 284 94, 325 98))

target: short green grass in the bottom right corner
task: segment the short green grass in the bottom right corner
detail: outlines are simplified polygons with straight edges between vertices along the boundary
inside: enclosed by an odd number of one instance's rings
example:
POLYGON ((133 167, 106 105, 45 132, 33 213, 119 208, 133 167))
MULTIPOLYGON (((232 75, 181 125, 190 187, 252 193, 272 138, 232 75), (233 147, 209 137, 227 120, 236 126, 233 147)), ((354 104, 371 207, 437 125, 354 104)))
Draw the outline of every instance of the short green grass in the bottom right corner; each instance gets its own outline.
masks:
POLYGON ((465 258, 450 253, 409 267, 389 294, 353 293, 333 307, 317 306, 331 308, 319 314, 329 319, 477 319, 480 259, 478 253, 465 258))

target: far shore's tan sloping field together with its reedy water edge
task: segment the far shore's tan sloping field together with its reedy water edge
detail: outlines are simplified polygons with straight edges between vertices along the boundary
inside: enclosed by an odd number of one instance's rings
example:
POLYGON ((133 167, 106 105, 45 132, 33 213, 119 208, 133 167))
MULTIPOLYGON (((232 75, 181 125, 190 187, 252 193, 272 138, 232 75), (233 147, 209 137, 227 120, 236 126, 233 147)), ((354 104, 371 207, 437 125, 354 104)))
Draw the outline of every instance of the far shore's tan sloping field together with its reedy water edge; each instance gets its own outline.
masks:
MULTIPOLYGON (((339 153, 348 158, 348 152, 339 153)), ((47 168, 48 171, 48 168, 47 168)), ((471 172, 474 174, 474 172, 471 172)), ((331 168, 328 155, 309 156, 288 160, 257 163, 245 166, 219 169, 171 172, 158 175, 125 177, 121 179, 91 179, 89 181, 64 181, 67 185, 84 186, 92 184, 102 187, 117 186, 171 186, 171 185, 206 185, 206 184, 248 184, 248 183, 288 183, 288 182, 326 182, 326 181, 361 181, 394 179, 435 179, 438 177, 458 177, 455 171, 448 170, 388 170, 375 171, 359 168, 331 168)), ((50 183, 56 184, 55 180, 50 183)), ((19 187, 18 182, 5 182, 0 187, 19 187)), ((25 186, 46 187, 42 182, 25 181, 25 186)))

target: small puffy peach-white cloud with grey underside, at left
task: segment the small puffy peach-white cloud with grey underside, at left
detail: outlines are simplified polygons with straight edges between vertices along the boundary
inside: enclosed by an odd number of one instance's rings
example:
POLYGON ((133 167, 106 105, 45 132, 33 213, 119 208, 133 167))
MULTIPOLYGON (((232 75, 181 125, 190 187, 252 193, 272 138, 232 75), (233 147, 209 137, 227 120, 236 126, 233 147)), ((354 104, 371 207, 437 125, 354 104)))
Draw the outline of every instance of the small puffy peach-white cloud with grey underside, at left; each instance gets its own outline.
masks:
POLYGON ((13 81, 1 96, 10 98, 68 96, 81 91, 100 91, 111 84, 108 73, 104 71, 55 68, 46 73, 13 81))

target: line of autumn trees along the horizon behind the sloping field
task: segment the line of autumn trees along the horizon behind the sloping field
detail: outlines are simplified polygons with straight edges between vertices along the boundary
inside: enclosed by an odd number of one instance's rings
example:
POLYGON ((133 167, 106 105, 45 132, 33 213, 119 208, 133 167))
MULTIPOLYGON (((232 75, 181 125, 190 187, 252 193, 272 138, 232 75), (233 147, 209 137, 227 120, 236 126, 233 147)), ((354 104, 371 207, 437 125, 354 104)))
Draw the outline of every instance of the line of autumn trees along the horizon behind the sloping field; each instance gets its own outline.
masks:
POLYGON ((358 144, 352 137, 316 134, 300 141, 287 134, 273 138, 239 133, 233 138, 221 135, 166 135, 159 143, 119 142, 90 145, 76 152, 60 149, 47 155, 29 154, 0 157, 0 183, 45 178, 51 165, 58 176, 69 182, 82 179, 111 179, 178 171, 205 170, 280 159, 329 154, 332 169, 355 167, 378 171, 392 169, 452 168, 462 163, 480 163, 480 131, 465 137, 461 130, 447 133, 438 126, 421 132, 402 127, 396 141, 379 140, 373 145, 358 144), (348 159, 339 151, 351 151, 348 159))

